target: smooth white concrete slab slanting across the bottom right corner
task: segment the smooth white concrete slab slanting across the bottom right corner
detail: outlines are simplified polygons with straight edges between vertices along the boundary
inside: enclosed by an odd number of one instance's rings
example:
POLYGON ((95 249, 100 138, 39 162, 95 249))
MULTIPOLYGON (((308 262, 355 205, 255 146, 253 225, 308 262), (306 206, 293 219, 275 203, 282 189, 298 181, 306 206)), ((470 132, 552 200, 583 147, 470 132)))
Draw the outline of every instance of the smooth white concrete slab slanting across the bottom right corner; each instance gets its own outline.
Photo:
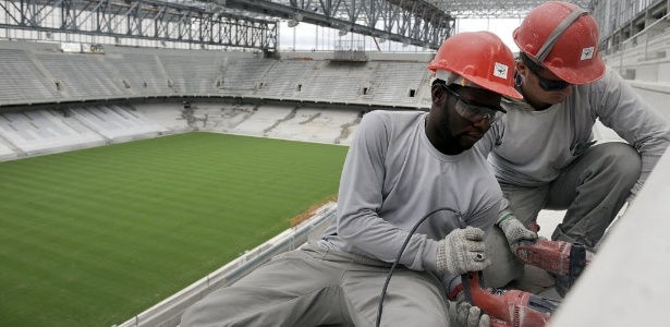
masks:
POLYGON ((551 327, 669 326, 670 152, 614 226, 551 327))

